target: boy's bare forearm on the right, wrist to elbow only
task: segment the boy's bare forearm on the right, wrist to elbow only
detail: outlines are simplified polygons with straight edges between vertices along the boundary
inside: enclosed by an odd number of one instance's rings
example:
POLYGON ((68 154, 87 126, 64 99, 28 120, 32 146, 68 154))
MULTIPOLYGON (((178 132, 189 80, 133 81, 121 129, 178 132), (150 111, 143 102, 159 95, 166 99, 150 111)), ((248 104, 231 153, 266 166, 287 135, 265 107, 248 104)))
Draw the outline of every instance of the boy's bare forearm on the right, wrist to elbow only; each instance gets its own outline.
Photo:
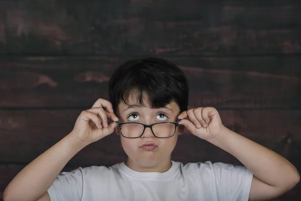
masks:
POLYGON ((216 139, 210 141, 236 157, 261 181, 274 187, 298 180, 296 168, 285 158, 233 131, 225 128, 216 139))

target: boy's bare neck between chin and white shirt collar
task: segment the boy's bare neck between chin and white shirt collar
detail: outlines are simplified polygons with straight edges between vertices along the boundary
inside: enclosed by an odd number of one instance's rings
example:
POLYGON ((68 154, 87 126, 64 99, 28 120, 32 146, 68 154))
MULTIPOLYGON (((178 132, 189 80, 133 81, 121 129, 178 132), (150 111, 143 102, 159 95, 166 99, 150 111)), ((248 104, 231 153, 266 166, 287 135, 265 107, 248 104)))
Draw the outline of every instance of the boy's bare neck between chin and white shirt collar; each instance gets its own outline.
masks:
POLYGON ((137 172, 166 172, 172 167, 171 157, 154 166, 142 166, 134 162, 130 158, 127 158, 125 164, 126 166, 137 172))

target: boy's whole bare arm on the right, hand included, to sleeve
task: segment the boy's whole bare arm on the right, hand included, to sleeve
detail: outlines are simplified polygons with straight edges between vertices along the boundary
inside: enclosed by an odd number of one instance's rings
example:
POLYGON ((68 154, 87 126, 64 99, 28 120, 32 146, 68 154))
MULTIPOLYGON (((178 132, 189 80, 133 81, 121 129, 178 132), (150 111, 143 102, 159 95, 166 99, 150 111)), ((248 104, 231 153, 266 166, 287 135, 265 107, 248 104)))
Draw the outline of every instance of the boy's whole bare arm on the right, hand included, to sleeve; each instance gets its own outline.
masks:
POLYGON ((250 200, 278 197, 299 182, 299 173, 289 161, 226 128, 215 108, 190 109, 178 118, 192 134, 232 154, 253 173, 250 200))

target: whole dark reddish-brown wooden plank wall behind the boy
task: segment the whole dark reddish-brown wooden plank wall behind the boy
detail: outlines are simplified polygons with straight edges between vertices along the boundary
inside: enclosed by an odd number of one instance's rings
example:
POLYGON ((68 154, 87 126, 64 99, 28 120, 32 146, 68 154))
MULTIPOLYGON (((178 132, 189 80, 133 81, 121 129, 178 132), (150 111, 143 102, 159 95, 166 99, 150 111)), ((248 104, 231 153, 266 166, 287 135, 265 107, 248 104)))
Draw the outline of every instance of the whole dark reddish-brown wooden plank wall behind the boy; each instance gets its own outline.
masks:
MULTIPOLYGON (((183 69, 189 107, 216 107, 225 126, 301 171, 300 1, 0 0, 0 199, 13 177, 108 98, 123 61, 158 56, 183 69)), ((64 168, 125 159, 117 135, 64 168)), ((240 164, 182 135, 173 160, 240 164)), ((274 200, 301 200, 301 185, 274 200)))

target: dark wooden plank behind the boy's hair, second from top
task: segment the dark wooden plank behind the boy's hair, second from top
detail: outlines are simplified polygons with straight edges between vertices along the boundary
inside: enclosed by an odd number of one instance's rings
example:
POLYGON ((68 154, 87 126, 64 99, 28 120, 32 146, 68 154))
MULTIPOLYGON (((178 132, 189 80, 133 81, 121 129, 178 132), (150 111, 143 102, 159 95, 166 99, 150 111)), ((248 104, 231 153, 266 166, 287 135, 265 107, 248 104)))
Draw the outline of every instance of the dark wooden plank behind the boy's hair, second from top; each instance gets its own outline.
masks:
MULTIPOLYGON (((140 57, 3 57, 0 107, 88 108, 131 58, 140 57)), ((300 57, 164 58, 186 74, 191 107, 300 108, 300 57)))

